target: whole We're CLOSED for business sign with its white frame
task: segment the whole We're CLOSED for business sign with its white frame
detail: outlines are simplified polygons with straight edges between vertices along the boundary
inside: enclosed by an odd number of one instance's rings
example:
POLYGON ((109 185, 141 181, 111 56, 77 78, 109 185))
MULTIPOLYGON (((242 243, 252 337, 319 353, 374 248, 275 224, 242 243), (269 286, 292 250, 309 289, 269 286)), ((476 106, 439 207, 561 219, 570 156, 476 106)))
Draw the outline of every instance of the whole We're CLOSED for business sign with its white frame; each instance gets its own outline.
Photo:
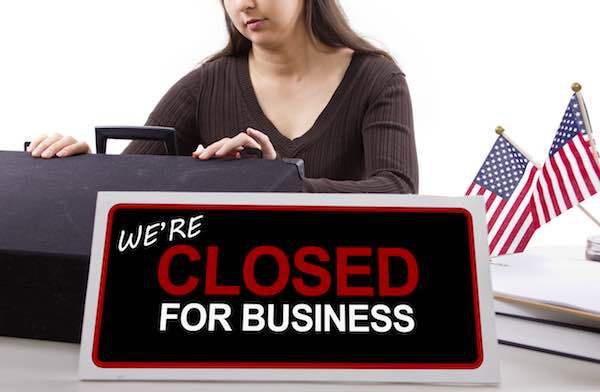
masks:
POLYGON ((483 203, 100 192, 82 379, 499 380, 483 203))

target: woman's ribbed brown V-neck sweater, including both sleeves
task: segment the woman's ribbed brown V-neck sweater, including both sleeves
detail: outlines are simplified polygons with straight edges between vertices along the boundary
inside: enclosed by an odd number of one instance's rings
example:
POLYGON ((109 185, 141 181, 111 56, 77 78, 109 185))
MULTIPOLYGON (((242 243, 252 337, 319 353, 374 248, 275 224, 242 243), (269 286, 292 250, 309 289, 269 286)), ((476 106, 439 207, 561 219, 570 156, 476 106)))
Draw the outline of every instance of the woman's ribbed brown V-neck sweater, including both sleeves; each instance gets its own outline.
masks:
MULTIPOLYGON (((261 110, 245 55, 204 63, 188 73, 160 100, 146 125, 174 127, 181 155, 247 127, 258 129, 278 156, 304 160, 306 192, 418 192, 408 87, 396 64, 376 55, 353 55, 328 105, 294 140, 261 110)), ((133 141, 123 153, 166 151, 160 142, 133 141)))

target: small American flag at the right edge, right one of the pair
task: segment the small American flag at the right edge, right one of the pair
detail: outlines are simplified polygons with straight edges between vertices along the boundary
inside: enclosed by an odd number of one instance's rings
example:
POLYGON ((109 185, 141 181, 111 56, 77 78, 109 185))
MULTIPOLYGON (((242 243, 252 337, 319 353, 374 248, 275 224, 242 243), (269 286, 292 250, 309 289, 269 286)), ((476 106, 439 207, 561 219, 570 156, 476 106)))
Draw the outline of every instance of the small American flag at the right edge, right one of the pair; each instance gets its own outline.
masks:
POLYGON ((546 223, 600 189, 600 168, 590 148, 576 94, 554 136, 533 198, 540 223, 546 223))

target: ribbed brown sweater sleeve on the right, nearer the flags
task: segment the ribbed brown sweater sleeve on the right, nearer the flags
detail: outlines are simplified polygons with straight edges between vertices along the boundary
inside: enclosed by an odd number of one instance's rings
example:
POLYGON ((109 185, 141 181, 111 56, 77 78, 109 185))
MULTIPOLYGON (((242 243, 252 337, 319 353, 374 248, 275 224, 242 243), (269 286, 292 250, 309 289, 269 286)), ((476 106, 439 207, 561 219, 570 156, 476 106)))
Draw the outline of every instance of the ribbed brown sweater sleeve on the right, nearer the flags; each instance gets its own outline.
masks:
POLYGON ((401 73, 394 74, 369 103, 361 135, 364 180, 305 178, 305 192, 417 193, 418 164, 410 95, 401 73))

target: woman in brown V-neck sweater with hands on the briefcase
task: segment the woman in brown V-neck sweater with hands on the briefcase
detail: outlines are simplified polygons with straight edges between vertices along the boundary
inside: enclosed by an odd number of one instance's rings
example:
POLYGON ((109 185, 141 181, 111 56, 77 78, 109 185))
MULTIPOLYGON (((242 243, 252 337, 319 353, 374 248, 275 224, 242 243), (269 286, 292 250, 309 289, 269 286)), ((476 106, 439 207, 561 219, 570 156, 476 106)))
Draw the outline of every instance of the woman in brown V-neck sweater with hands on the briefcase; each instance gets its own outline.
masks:
MULTIPOLYGON (((335 0, 222 0, 229 43, 179 80, 147 125, 174 127, 180 154, 301 158, 307 192, 417 193, 404 74, 349 27, 335 0)), ((85 142, 37 137, 34 157, 90 153, 85 142)), ((133 141, 125 154, 163 154, 133 141)))

